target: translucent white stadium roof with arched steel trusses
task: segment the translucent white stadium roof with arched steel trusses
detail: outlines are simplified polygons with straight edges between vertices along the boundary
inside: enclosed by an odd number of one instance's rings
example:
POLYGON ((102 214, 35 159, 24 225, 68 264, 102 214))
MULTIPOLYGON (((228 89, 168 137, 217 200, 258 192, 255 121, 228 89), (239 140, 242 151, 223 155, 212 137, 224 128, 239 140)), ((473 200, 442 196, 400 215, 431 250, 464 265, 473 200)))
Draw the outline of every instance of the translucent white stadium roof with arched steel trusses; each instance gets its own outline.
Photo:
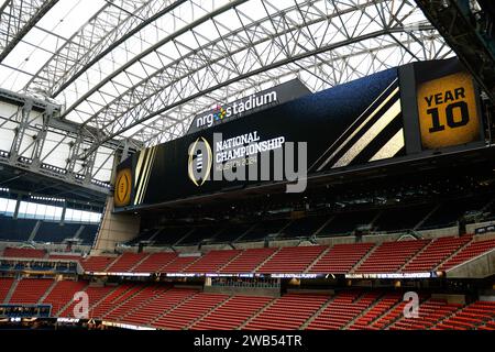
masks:
POLYGON ((407 0, 0 0, 0 88, 62 105, 91 136, 80 160, 293 78, 318 91, 453 55, 407 0))

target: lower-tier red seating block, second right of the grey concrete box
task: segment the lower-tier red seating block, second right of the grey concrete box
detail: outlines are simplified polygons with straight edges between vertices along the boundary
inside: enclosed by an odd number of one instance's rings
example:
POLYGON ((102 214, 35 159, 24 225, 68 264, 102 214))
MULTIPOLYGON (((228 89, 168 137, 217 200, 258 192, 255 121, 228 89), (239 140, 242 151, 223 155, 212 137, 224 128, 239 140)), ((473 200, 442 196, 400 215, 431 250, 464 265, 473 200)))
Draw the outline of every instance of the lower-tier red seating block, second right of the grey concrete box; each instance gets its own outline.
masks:
POLYGON ((360 295, 349 292, 337 295, 333 300, 312 320, 308 330, 340 330, 354 320, 378 298, 378 292, 360 295))

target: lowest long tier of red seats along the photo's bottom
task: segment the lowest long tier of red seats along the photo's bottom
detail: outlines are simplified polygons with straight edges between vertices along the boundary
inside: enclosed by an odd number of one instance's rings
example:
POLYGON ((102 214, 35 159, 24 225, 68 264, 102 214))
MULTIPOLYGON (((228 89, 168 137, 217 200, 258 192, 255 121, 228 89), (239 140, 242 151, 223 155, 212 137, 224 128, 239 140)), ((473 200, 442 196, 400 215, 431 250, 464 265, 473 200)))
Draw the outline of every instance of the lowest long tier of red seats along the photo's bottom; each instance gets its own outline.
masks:
MULTIPOLYGON (((0 299, 13 283, 12 278, 0 278, 0 299)), ((50 304, 52 316, 74 317, 77 292, 89 296, 89 318, 166 330, 495 329, 493 301, 464 306, 421 295, 417 319, 404 316, 406 302, 400 293, 381 290, 292 293, 271 298, 207 294, 158 284, 97 286, 85 280, 24 278, 16 283, 9 302, 50 304)))

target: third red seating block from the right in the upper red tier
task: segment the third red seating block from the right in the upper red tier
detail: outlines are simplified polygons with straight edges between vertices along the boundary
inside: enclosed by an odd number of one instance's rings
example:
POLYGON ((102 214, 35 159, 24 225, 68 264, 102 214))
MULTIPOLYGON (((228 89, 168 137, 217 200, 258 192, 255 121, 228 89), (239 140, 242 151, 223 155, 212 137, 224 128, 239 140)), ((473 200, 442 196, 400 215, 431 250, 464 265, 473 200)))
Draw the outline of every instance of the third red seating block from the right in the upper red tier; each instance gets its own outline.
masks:
POLYGON ((428 240, 384 242, 356 268, 356 273, 396 273, 428 240))

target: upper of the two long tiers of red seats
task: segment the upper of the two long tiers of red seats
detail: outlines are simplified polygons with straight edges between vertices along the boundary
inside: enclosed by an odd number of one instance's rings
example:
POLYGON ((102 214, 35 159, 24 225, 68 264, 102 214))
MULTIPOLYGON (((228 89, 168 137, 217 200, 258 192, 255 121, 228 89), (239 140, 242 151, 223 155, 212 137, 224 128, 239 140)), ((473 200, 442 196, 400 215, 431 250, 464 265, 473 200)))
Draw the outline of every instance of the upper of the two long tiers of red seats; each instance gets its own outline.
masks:
MULTIPOLYGON (((124 253, 79 260, 86 272, 114 273, 410 273, 449 270, 495 249, 495 239, 435 240, 210 251, 207 254, 124 253)), ((6 249, 7 256, 41 257, 43 250, 6 249)), ((53 258, 54 256, 50 256, 53 258)), ((58 256, 57 256, 58 257, 58 256)), ((64 258, 68 258, 65 256, 64 258)))

